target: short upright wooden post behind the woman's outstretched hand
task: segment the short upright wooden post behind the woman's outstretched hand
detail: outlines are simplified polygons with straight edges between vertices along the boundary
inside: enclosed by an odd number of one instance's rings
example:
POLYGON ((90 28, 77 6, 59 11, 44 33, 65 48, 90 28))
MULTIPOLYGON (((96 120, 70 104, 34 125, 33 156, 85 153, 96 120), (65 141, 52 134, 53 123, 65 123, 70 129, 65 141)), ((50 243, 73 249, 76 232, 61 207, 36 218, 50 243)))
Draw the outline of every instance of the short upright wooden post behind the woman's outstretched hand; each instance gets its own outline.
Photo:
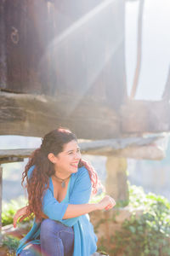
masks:
POLYGON ((106 161, 106 193, 116 201, 128 200, 127 159, 108 156, 106 161))

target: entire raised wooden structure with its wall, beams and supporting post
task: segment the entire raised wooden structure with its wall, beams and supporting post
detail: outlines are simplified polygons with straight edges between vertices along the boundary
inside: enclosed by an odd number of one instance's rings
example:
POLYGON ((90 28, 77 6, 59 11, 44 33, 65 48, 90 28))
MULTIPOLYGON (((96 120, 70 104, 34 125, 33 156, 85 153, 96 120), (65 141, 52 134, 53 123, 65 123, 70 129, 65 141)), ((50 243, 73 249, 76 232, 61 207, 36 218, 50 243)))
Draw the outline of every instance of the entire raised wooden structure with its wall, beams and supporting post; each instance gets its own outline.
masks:
POLYGON ((62 125, 102 140, 82 150, 108 156, 107 190, 117 199, 127 197, 127 157, 163 157, 143 134, 170 131, 169 102, 127 97, 124 12, 124 0, 0 2, 0 135, 42 137, 62 125), (143 145, 127 143, 137 136, 143 145))

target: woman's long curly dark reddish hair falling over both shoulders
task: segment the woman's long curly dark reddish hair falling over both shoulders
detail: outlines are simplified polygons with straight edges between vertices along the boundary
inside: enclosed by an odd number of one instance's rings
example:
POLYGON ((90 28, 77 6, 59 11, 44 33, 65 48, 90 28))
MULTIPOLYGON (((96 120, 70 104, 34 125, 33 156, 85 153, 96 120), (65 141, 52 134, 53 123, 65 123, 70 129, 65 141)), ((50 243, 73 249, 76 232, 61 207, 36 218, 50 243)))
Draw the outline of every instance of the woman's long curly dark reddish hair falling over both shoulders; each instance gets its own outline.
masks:
MULTIPOLYGON (((72 140, 77 141, 77 137, 70 130, 59 128, 48 132, 42 138, 40 148, 37 148, 32 154, 26 165, 25 171, 22 173, 22 185, 26 180, 26 189, 28 193, 28 213, 35 214, 37 219, 42 219, 42 198, 45 191, 49 187, 49 177, 54 174, 54 164, 48 160, 48 154, 59 154, 63 151, 64 145, 70 143, 72 140), (29 169, 35 166, 29 175, 29 169)), ((78 167, 85 166, 88 170, 89 177, 92 182, 92 195, 97 193, 98 176, 87 161, 80 160, 78 167)))

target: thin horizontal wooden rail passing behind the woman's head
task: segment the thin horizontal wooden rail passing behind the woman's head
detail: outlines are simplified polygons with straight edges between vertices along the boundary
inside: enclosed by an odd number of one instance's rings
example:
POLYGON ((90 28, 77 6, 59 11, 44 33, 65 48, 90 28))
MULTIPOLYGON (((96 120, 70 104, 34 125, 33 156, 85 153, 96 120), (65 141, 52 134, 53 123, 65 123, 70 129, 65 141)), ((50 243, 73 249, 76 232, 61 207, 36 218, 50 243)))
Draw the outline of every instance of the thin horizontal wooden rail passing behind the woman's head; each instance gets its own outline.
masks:
MULTIPOLYGON (((165 148, 157 144, 163 137, 129 137, 94 142, 79 142, 82 154, 114 155, 134 159, 161 160, 165 157, 165 148)), ((36 148, 1 149, 0 162, 6 158, 24 159, 36 148)), ((8 161, 7 161, 8 162, 8 161)))

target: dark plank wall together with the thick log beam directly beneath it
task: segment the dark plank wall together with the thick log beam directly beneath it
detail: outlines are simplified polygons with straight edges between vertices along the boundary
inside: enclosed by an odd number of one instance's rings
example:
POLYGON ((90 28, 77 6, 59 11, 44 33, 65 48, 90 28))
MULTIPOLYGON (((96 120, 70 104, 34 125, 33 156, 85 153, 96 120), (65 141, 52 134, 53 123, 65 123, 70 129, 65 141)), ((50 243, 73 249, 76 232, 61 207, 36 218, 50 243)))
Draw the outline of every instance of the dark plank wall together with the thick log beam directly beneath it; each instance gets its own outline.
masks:
POLYGON ((117 135, 114 109, 127 96, 124 1, 76 0, 74 6, 1 2, 0 89, 6 93, 0 99, 0 134, 42 136, 38 126, 46 132, 66 125, 77 137, 117 135))

